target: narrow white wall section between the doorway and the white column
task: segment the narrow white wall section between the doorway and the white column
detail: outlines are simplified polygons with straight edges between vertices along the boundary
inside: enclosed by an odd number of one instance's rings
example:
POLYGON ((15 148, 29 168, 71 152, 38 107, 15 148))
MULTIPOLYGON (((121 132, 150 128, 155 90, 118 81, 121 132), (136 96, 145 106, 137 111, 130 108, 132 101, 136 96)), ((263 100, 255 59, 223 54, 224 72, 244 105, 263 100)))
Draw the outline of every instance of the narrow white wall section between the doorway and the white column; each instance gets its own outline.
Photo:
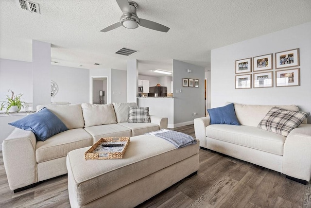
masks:
POLYGON ((127 73, 125 70, 111 69, 111 102, 127 102, 127 73))

